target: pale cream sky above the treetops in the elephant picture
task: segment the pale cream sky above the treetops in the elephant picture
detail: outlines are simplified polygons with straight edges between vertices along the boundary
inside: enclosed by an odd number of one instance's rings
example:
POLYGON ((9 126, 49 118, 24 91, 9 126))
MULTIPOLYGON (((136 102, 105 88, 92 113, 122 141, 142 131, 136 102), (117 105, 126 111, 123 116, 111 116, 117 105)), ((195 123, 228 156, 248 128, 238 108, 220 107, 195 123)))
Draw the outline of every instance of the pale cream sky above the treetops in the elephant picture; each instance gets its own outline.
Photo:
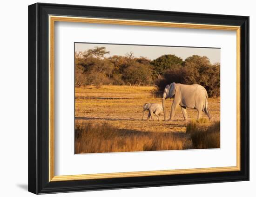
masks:
POLYGON ((110 51, 106 57, 113 55, 124 56, 132 51, 135 57, 148 57, 151 60, 162 55, 173 54, 181 57, 183 61, 192 55, 207 56, 212 64, 221 61, 221 49, 219 48, 75 43, 75 51, 83 52, 95 46, 106 47, 106 50, 110 51))

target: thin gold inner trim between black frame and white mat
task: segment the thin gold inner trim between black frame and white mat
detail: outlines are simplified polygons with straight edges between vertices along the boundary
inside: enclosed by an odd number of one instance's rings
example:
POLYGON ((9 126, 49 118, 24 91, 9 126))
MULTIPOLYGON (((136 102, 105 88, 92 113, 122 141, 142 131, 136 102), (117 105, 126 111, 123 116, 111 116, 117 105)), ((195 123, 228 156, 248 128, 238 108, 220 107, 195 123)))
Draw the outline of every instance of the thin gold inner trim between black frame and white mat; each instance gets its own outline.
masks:
POLYGON ((49 15, 48 21, 49 21, 49 40, 48 40, 49 41, 49 65, 48 65, 49 66, 49 181, 69 181, 69 180, 99 179, 99 178, 124 178, 124 177, 142 177, 142 176, 174 175, 174 174, 190 174, 190 173, 206 173, 206 172, 240 171, 240 151, 241 151, 240 150, 240 66, 241 66, 240 65, 240 39, 241 39, 240 26, 172 23, 172 22, 124 20, 124 19, 99 19, 99 18, 67 17, 67 16, 54 16, 54 15, 49 15), (55 176, 54 175, 54 22, 56 21, 236 31, 236 166, 55 176))

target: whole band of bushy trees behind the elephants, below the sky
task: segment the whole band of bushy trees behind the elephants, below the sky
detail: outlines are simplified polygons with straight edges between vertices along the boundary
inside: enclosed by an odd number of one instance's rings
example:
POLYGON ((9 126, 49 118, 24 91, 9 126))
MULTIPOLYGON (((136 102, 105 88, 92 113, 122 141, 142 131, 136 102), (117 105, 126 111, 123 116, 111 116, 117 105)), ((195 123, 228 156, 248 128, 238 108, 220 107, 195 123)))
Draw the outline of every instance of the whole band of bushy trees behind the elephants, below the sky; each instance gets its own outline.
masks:
POLYGON ((155 85, 155 94, 162 94, 166 84, 172 82, 201 84, 208 95, 220 95, 220 64, 211 64, 206 56, 193 55, 182 60, 175 55, 163 55, 150 60, 146 57, 105 57, 105 47, 95 47, 75 53, 75 85, 155 85))

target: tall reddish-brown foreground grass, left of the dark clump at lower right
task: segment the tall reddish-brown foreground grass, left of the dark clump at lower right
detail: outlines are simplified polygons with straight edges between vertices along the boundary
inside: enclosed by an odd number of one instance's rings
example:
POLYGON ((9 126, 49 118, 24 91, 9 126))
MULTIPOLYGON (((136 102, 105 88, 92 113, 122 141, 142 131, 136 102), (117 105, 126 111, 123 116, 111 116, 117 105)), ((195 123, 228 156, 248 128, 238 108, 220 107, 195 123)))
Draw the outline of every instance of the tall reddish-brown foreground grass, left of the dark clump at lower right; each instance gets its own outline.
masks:
POLYGON ((175 133, 138 132, 108 123, 84 122, 75 128, 75 153, 182 150, 191 140, 175 133))

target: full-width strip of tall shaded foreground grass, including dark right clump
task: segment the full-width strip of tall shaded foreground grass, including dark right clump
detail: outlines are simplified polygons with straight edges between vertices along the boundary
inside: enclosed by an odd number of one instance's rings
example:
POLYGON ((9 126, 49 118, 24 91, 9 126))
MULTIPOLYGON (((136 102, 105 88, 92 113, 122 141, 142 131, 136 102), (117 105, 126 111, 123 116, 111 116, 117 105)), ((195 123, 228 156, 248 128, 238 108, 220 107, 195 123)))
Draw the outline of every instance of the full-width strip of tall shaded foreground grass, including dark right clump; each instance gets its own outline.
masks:
POLYGON ((188 124, 186 133, 138 132, 108 123, 84 122, 75 127, 75 153, 113 153, 220 148, 220 122, 205 129, 188 124))

